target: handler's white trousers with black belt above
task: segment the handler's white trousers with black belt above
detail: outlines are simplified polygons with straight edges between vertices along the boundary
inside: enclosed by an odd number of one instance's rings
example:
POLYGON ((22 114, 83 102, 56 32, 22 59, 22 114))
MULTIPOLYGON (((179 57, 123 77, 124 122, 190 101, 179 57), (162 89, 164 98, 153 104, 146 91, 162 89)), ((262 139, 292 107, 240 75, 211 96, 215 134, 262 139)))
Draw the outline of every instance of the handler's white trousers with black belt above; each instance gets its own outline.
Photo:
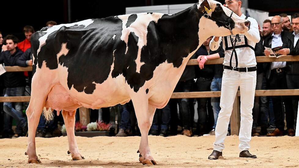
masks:
POLYGON ((252 129, 252 109, 254 104, 255 87, 257 83, 257 71, 238 72, 224 69, 220 96, 220 112, 217 119, 214 142, 214 150, 222 152, 224 139, 227 135, 227 128, 233 110, 234 100, 240 87, 240 152, 249 150, 252 129))

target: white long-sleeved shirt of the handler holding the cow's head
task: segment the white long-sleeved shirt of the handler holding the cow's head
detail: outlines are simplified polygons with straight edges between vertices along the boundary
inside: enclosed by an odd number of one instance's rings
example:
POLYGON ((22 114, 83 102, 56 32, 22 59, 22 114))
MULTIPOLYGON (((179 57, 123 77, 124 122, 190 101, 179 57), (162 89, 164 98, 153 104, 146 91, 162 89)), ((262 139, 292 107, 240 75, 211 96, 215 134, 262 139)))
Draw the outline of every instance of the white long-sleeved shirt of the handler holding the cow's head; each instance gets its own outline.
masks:
MULTIPOLYGON (((242 19, 245 19, 245 15, 242 14, 240 16, 242 19)), ((255 47, 256 43, 260 41, 260 32, 258 29, 258 24, 255 19, 252 17, 248 17, 250 21, 250 29, 244 33, 246 38, 248 39, 248 45, 252 46, 253 48, 255 47)), ((220 42, 223 41, 223 49, 225 50, 225 42, 224 42, 224 37, 220 37, 217 42, 214 40, 215 37, 212 38, 210 42, 210 49, 212 51, 215 51, 219 48, 220 42)), ((242 48, 236 48, 236 53, 237 53, 237 58, 238 58, 238 68, 245 68, 245 67, 254 67, 257 65, 257 60, 255 58, 255 53, 253 49, 249 47, 242 47, 242 48)), ((230 66, 230 59, 231 59, 231 53, 232 49, 230 50, 225 50, 224 54, 224 61, 223 65, 230 66)), ((235 55, 233 55, 231 65, 233 67, 236 66, 236 59, 235 55)))

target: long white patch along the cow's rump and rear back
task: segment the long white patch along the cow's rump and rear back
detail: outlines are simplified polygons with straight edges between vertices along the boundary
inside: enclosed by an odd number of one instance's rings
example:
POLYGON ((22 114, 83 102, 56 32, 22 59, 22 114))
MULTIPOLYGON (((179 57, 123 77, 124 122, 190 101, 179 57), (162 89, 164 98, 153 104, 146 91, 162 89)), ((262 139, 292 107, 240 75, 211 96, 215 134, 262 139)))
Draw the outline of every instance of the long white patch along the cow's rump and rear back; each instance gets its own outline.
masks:
POLYGON ((88 25, 90 25, 92 23, 94 23, 94 20, 87 19, 87 20, 82 20, 82 21, 75 22, 75 23, 54 25, 54 26, 48 28, 46 31, 42 31, 42 32, 44 32, 46 34, 39 38, 39 49, 37 50, 37 55, 39 55, 39 52, 40 52, 40 49, 42 48, 42 46, 44 46, 46 44, 46 40, 48 39, 48 36, 51 33, 53 33, 54 31, 59 30, 63 26, 65 26, 65 27, 72 27, 72 26, 75 26, 75 25, 78 25, 78 26, 84 25, 85 27, 87 27, 88 25))

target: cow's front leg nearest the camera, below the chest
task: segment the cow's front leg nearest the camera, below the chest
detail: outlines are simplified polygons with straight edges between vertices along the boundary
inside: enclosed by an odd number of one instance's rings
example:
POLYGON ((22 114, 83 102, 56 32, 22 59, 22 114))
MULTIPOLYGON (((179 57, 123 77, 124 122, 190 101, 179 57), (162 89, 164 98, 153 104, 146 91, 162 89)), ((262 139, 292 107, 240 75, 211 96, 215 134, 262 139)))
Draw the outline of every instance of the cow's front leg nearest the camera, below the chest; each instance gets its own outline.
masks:
POLYGON ((141 133, 141 141, 138 150, 138 153, 140 153, 139 161, 144 165, 156 165, 157 163, 152 157, 148 143, 149 128, 153 122, 153 115, 156 111, 156 108, 148 104, 148 99, 142 100, 140 97, 138 97, 138 99, 132 99, 132 102, 138 121, 138 127, 141 133))

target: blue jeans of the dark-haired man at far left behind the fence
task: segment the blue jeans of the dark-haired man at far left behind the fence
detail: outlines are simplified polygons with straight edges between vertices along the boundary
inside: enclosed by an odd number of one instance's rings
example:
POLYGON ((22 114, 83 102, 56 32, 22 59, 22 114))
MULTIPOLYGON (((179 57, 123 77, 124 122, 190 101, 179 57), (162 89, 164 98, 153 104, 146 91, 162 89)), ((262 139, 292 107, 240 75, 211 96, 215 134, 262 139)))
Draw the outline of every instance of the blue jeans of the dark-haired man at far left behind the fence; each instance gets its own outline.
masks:
MULTIPOLYGON (((8 96, 23 96, 24 95, 24 87, 15 87, 15 88, 6 88, 4 97, 8 96)), ((22 102, 4 102, 3 110, 6 114, 12 116, 17 121, 17 127, 24 128, 26 127, 26 120, 22 114, 22 102)), ((5 119, 7 120, 9 117, 6 115, 5 119)), ((3 130, 10 130, 9 121, 4 122, 3 130)))

